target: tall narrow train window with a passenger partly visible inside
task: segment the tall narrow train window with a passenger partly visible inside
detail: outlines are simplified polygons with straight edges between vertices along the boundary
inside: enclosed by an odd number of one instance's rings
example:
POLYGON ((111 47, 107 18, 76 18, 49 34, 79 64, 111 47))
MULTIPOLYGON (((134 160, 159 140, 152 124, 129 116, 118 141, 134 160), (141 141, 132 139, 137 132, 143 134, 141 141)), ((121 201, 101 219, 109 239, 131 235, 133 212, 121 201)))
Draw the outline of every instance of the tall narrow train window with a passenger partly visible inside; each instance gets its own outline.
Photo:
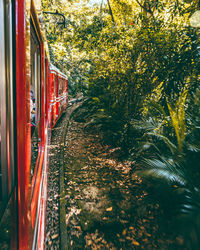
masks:
POLYGON ((31 176, 36 166, 40 132, 39 121, 41 117, 41 49, 34 25, 31 21, 31 176))

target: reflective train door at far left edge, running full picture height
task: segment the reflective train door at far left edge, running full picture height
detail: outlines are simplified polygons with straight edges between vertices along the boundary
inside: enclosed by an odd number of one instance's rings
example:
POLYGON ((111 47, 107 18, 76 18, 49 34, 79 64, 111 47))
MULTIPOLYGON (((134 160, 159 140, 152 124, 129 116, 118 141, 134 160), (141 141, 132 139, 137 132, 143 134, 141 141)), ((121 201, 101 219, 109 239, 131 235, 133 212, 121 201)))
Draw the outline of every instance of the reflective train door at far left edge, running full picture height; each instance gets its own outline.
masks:
POLYGON ((0 249, 17 247, 12 11, 0 0, 0 249))

